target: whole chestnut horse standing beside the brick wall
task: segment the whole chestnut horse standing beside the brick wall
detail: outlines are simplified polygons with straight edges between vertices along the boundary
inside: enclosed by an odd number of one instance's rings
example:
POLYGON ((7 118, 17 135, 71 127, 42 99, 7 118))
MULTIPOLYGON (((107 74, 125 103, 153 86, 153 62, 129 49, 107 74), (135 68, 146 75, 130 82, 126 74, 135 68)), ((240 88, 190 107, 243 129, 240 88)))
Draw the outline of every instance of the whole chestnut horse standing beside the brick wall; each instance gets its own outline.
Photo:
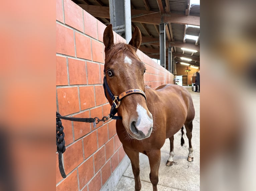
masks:
MULTIPOLYGON (((139 176, 139 152, 148 156, 150 181, 157 191, 158 170, 165 139, 170 139, 170 156, 166 165, 173 162, 173 135, 183 125, 189 141, 188 161, 193 161, 191 145, 192 121, 195 109, 191 95, 178 85, 162 85, 156 90, 145 86, 145 64, 136 55, 141 43, 141 33, 135 28, 129 44, 114 44, 112 25, 103 35, 105 45, 104 89, 112 105, 111 115, 116 112, 122 120, 116 121, 116 131, 124 151, 131 160, 135 190, 141 189, 139 176), (112 112, 116 110, 116 112, 112 112)), ((112 115, 113 114, 113 115, 112 115)), ((181 137, 181 145, 184 139, 181 137)))

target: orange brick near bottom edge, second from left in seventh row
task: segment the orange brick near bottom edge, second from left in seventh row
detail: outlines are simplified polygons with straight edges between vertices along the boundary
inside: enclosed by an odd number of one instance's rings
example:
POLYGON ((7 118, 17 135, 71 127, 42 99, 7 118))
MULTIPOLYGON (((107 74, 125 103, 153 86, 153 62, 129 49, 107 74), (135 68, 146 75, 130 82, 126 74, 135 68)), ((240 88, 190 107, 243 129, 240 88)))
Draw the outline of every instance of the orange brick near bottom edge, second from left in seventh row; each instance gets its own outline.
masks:
POLYGON ((90 157, 85 163, 78 167, 78 174, 80 189, 82 189, 94 176, 93 157, 90 157))

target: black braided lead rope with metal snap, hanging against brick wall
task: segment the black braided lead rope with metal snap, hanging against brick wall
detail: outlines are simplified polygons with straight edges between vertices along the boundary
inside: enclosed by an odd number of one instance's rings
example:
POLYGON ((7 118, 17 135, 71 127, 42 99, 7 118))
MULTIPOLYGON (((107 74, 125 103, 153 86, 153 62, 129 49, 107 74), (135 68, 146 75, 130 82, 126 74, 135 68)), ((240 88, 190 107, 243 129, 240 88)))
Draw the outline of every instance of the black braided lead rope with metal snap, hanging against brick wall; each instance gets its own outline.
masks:
POLYGON ((65 152, 66 147, 65 147, 65 140, 64 140, 65 134, 63 132, 64 127, 62 126, 62 123, 61 123, 60 119, 93 123, 93 126, 95 128, 96 124, 98 124, 100 121, 105 122, 105 121, 107 121, 111 118, 116 119, 115 117, 117 117, 117 116, 113 116, 113 117, 104 116, 102 119, 99 119, 98 117, 95 117, 95 118, 64 117, 64 116, 61 116, 58 112, 56 112, 56 146, 57 146, 57 152, 59 153, 59 155, 58 155, 59 172, 60 172, 60 174, 63 178, 67 177, 67 175, 65 173, 65 170, 63 168, 63 164, 62 164, 62 153, 65 152))

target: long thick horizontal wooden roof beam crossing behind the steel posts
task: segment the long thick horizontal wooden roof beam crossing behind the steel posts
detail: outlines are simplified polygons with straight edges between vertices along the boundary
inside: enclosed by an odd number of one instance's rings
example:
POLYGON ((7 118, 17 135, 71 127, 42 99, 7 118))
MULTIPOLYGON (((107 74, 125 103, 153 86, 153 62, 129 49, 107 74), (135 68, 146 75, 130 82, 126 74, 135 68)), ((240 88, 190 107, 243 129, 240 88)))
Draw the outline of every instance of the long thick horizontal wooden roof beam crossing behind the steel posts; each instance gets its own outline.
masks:
MULTIPOLYGON (((89 12, 94 17, 110 18, 109 7, 85 5, 85 4, 78 4, 78 5, 82 7, 84 10, 86 10, 87 12, 89 12)), ((200 17, 197 17, 197 16, 186 16, 186 15, 175 14, 175 13, 163 14, 163 15, 164 15, 165 23, 170 22, 170 23, 200 26, 200 17)), ((154 12, 154 11, 131 9, 131 18, 132 18, 132 22, 139 22, 139 23, 148 23, 148 24, 158 25, 161 22, 161 14, 159 14, 159 12, 154 12)))

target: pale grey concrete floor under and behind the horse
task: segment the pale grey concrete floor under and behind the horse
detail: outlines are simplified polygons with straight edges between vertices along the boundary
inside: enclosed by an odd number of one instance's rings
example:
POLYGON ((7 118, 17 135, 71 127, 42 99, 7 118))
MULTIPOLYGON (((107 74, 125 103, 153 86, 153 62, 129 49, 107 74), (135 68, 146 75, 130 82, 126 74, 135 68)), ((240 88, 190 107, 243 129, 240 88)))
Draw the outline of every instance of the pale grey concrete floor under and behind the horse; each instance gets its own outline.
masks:
MULTIPOLYGON (((193 98, 196 116, 193 121, 192 146, 194 149, 194 161, 188 162, 188 139, 184 136, 185 144, 180 146, 181 132, 174 135, 174 164, 166 166, 169 157, 170 142, 166 139, 161 148, 161 164, 159 168, 158 191, 199 191, 200 190, 200 93, 192 92, 191 87, 186 87, 193 98)), ((184 128, 185 133, 185 128, 184 128)), ((149 179, 148 157, 140 153, 140 179, 141 191, 152 190, 149 179)), ((134 191, 134 176, 131 164, 121 177, 114 191, 134 191)))

